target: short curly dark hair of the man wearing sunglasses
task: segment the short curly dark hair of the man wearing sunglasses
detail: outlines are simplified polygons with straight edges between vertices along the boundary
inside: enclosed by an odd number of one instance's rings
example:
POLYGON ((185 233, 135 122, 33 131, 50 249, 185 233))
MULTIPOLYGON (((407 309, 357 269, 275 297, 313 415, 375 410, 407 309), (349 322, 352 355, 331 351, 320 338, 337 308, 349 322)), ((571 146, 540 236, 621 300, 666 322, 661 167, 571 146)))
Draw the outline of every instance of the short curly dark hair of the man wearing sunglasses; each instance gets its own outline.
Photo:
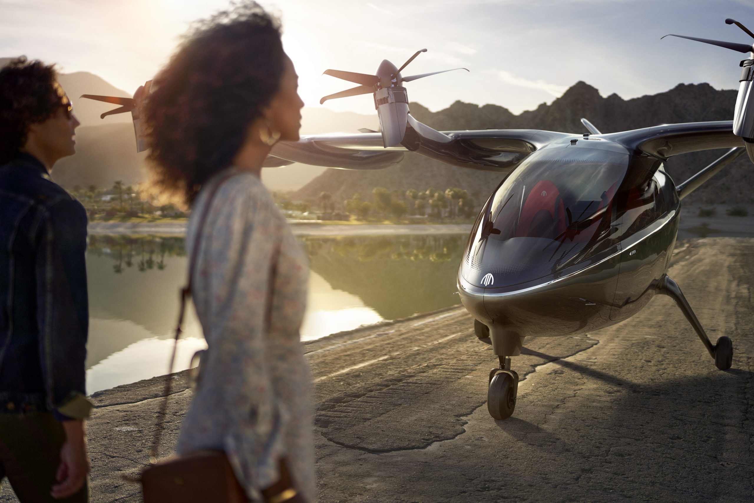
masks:
POLYGON ((48 120, 60 106, 54 65, 22 56, 0 69, 0 164, 20 151, 31 124, 48 120))

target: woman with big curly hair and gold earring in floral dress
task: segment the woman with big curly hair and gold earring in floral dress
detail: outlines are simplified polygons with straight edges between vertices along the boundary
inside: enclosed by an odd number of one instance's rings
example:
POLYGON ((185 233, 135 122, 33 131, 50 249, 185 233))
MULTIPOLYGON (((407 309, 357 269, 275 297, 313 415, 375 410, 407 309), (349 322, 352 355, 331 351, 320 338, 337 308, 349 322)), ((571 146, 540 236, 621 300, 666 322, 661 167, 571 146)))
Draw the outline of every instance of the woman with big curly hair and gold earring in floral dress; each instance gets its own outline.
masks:
POLYGON ((274 142, 299 139, 297 87, 277 21, 248 2, 189 33, 143 109, 155 182, 192 206, 187 249, 199 240, 192 290, 208 348, 177 450, 223 449, 254 500, 286 459, 299 495, 280 502, 316 498, 307 259, 260 180, 274 142))

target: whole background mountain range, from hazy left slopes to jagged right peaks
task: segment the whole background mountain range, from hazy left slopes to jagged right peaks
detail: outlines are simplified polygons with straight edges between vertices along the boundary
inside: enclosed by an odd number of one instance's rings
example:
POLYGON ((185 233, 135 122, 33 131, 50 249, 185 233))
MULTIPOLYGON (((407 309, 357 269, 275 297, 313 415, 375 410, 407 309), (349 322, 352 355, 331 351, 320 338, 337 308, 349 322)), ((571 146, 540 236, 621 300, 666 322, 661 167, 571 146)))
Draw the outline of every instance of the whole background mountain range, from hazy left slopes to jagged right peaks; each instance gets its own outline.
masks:
MULTIPOLYGON (((10 58, 0 58, 0 67, 8 61, 10 58)), ((130 114, 100 119, 101 113, 114 106, 78 98, 81 94, 121 97, 130 94, 89 72, 63 73, 59 80, 74 102, 81 126, 76 130, 76 154, 56 164, 54 179, 68 187, 109 187, 118 179, 126 185, 144 181, 146 154, 136 152, 130 114)), ((537 109, 519 115, 502 106, 478 106, 461 101, 438 112, 431 112, 419 103, 410 103, 410 109, 419 121, 441 131, 513 128, 583 133, 580 119, 584 117, 603 133, 611 133, 666 123, 731 120, 735 100, 735 90, 716 90, 709 84, 679 84, 664 93, 624 100, 617 94, 602 97, 595 87, 579 81, 550 105, 542 103, 537 109)), ((355 132, 362 127, 377 130, 377 116, 308 107, 302 110, 302 134, 355 132)), ((670 158, 666 165, 673 179, 682 182, 719 155, 722 152, 679 155, 670 158)), ((317 198, 321 192, 329 192, 335 201, 343 201, 356 192, 368 195, 376 186, 399 192, 460 187, 467 189, 481 204, 501 175, 452 167, 408 152, 403 161, 384 170, 335 170, 293 164, 265 168, 262 179, 271 190, 296 191, 293 198, 299 199, 317 198)), ((692 204, 752 204, 754 198, 749 191, 752 181, 754 173, 744 156, 690 195, 687 201, 692 204)))

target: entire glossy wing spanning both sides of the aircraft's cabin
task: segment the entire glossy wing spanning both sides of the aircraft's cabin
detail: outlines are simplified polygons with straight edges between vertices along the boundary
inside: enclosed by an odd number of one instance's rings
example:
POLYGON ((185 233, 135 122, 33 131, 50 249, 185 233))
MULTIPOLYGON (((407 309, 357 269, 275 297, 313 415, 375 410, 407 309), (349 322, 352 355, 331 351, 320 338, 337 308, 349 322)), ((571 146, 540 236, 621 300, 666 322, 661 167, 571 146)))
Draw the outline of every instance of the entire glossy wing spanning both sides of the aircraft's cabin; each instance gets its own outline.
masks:
MULTIPOLYGON (((453 166, 510 173, 535 150, 578 136, 523 129, 440 132, 408 115, 406 134, 397 146, 385 148, 381 133, 318 134, 302 136, 298 142, 278 142, 266 162, 375 170, 400 162, 405 152, 416 152, 453 166)), ((732 121, 663 124, 599 137, 664 159, 687 152, 744 146, 733 133, 732 121)))

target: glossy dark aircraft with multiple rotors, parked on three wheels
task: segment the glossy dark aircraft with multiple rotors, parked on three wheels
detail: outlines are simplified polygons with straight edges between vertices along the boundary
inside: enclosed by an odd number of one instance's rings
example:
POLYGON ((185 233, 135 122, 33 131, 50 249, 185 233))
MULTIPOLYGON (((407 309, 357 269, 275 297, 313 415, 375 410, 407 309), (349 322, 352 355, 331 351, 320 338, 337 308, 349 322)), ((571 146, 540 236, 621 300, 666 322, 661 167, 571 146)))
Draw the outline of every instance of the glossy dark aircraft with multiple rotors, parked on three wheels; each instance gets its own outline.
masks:
MULTIPOLYGON (((754 38, 743 25, 736 24, 754 38)), ((742 53, 752 45, 690 38, 742 53)), ((266 167, 302 162, 352 170, 396 164, 415 152, 458 167, 501 173, 483 205, 458 268, 458 293, 474 317, 474 332, 492 345, 499 366, 489 373, 488 410, 506 419, 516 406, 518 374, 510 357, 527 336, 568 336, 617 324, 639 312, 657 294, 679 306, 716 367, 731 367, 728 336, 713 344, 680 287, 667 275, 683 198, 746 152, 754 162, 754 54, 740 66, 733 121, 662 124, 620 133, 544 130, 437 131, 409 112, 401 72, 384 60, 375 75, 339 70, 325 74, 359 84, 323 97, 372 94, 380 132, 302 136, 279 142, 266 167), (673 155, 729 149, 690 179, 676 183, 664 168, 673 155)), ((445 70, 450 71, 450 70, 445 70)), ((148 90, 149 82, 145 88, 148 90)), ((137 94, 144 90, 139 88, 137 94)), ((134 100, 94 97, 133 112, 134 100)), ((135 98, 137 96, 135 95, 135 98)), ((108 112, 110 113, 110 112, 108 112)), ((104 115, 104 114, 103 114, 104 115)))

